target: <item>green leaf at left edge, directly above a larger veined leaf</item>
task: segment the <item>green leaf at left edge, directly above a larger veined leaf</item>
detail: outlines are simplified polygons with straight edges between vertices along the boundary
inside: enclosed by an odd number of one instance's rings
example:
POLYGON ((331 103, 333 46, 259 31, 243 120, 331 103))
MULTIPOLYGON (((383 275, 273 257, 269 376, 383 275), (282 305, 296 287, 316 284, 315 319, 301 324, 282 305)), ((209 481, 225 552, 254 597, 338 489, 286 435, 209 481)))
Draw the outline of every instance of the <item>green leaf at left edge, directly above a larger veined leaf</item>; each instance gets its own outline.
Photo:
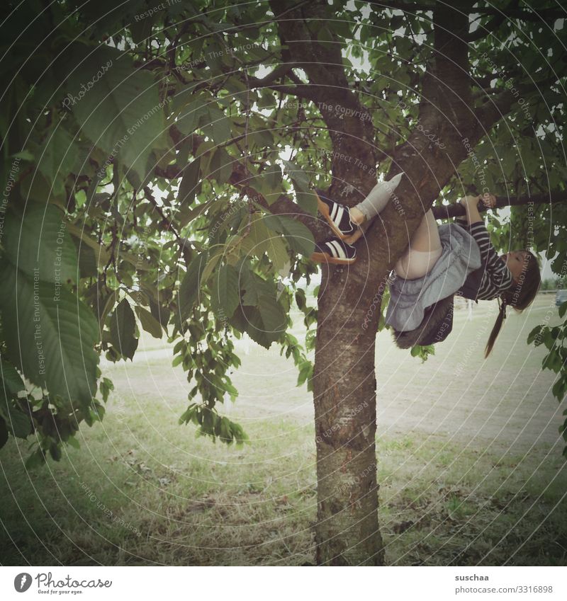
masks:
POLYGON ((4 252, 15 267, 43 282, 52 292, 67 280, 77 281, 77 250, 66 229, 67 220, 54 205, 28 202, 23 218, 6 216, 4 252))

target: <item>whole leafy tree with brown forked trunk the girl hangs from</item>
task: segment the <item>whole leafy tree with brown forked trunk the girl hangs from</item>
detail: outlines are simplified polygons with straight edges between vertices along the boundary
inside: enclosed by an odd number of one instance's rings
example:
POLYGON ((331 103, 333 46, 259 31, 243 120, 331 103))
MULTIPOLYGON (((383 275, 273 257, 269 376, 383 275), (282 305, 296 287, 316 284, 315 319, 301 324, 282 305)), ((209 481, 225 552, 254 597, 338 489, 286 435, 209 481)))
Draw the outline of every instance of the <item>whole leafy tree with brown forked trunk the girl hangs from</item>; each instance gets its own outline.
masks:
MULTIPOLYGON (((381 565, 374 357, 386 278, 424 210, 486 190, 502 205, 527 199, 492 218, 495 246, 557 254, 565 273, 566 211, 551 202, 566 190, 563 9, 8 4, 0 442, 33 432, 28 465, 76 445, 112 388, 99 355, 131 359, 143 328, 176 341, 191 385, 180 422, 240 445, 246 433, 216 403, 237 396, 232 338, 247 332, 280 345, 313 390, 317 563, 381 565), (329 234, 313 185, 354 205, 400 171, 357 263, 312 263, 329 234), (302 282, 319 270, 315 308, 302 282), (286 331, 292 306, 305 346, 286 331)), ((560 401, 565 333, 529 340, 549 342, 560 401)))

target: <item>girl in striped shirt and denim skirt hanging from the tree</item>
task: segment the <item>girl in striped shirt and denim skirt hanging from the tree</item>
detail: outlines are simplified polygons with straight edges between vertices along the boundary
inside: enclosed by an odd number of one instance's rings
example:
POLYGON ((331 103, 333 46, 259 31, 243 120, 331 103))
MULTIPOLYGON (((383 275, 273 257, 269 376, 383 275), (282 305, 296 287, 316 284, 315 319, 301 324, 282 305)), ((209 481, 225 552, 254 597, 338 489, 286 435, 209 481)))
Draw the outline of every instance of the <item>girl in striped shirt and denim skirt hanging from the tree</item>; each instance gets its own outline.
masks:
MULTIPOLYGON (((337 235, 318 244, 311 258, 335 265, 354 263, 354 244, 363 235, 359 227, 386 207, 402 175, 376 184, 356 207, 341 205, 315 190, 319 211, 337 235)), ((395 263, 386 324, 393 328, 400 348, 447 338, 457 294, 475 302, 498 299, 500 310, 485 348, 488 357, 506 318, 506 307, 521 312, 534 300, 541 283, 536 256, 524 250, 498 256, 478 212, 481 200, 485 207, 495 206, 493 195, 466 196, 459 200, 466 217, 439 226, 428 210, 395 263)))

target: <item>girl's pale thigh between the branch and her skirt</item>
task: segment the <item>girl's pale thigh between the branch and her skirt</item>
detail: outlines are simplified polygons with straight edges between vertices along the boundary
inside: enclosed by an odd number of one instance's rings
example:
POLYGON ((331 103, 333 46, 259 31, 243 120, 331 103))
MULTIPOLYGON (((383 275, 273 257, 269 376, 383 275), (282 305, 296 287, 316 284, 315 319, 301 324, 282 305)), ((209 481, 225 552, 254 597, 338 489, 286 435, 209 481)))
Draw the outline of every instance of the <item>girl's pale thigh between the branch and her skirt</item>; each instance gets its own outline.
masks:
POLYGON ((439 229, 432 210, 429 210, 415 230, 410 246, 395 263, 394 271, 404 280, 416 280, 430 273, 441 254, 439 229))

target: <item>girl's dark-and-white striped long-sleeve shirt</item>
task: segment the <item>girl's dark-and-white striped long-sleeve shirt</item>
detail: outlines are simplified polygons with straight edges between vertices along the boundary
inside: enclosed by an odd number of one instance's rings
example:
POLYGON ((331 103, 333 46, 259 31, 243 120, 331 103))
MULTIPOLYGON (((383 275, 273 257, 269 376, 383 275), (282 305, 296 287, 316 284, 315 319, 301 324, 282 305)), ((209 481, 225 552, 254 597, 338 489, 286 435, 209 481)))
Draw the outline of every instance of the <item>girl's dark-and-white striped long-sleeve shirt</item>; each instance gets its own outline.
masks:
POLYGON ((478 269, 482 270, 482 280, 476 299, 491 300, 499 297, 505 290, 512 287, 514 280, 505 260, 498 256, 490 243, 490 236, 484 223, 477 222, 469 226, 465 217, 456 217, 455 222, 473 236, 481 250, 482 265, 478 269))

